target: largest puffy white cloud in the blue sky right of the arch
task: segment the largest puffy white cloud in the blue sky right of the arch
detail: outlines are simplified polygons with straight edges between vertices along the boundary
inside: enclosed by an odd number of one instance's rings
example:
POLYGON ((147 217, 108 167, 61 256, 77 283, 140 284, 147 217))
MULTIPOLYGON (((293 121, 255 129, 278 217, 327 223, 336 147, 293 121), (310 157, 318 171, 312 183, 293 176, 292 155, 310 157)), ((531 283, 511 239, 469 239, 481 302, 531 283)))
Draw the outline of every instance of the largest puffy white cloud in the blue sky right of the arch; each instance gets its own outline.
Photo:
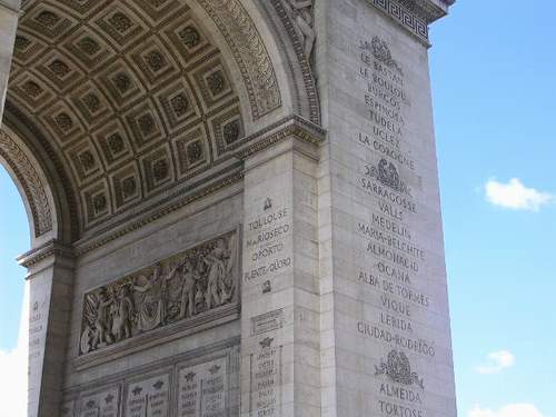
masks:
POLYGON ((538 211, 556 200, 549 192, 525 187, 518 178, 512 178, 507 183, 489 179, 485 183, 485 193, 488 202, 513 210, 538 211))

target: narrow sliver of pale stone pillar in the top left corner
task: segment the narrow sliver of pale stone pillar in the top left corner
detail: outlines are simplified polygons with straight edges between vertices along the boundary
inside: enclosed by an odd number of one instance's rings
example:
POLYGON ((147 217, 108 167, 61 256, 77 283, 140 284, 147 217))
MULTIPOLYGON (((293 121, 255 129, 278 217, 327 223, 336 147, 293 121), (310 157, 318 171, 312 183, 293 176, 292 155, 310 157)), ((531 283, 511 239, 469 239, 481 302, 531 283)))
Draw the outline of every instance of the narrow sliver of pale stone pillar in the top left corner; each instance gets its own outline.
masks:
POLYGON ((8 89, 20 0, 0 0, 0 122, 8 89))

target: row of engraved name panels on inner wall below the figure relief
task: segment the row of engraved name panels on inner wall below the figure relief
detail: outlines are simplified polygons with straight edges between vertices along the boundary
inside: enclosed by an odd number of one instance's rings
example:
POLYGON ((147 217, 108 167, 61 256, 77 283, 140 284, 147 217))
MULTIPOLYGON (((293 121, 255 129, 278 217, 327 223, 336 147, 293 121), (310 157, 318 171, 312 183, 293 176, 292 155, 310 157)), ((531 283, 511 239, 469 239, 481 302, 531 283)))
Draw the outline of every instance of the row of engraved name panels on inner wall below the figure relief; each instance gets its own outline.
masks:
POLYGON ((239 339, 121 375, 111 385, 64 393, 62 417, 237 417, 239 339), (232 345, 234 344, 234 345, 232 345), (207 354, 207 355, 206 355, 207 354))

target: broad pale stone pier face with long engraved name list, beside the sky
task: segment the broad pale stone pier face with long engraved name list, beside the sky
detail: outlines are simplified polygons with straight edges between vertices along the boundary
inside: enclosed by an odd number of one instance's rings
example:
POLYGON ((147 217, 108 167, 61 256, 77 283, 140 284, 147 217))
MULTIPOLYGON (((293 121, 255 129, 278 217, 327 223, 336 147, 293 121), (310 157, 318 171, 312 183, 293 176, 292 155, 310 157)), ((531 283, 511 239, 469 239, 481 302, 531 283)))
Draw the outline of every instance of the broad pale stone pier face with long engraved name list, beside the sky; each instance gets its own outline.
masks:
POLYGON ((322 416, 456 416, 427 56, 451 2, 316 2, 322 416))

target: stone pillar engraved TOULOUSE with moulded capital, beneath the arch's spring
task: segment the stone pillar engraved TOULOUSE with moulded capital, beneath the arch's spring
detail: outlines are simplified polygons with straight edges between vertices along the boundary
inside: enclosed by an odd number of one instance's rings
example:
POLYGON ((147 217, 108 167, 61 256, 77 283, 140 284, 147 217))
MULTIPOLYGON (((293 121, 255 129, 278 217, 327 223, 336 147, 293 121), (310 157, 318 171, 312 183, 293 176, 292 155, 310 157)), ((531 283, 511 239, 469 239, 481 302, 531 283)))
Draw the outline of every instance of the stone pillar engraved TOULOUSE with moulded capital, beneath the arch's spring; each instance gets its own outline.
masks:
POLYGON ((244 417, 320 416, 318 149, 295 129, 245 162, 244 417))

